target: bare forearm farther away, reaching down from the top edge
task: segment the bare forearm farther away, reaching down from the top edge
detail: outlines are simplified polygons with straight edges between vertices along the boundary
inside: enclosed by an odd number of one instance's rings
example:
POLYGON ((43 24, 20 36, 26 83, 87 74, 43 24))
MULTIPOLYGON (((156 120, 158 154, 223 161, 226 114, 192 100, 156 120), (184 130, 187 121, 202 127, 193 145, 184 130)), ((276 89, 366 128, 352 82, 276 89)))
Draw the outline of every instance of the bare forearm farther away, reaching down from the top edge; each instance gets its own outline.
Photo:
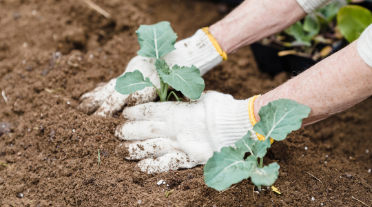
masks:
POLYGON ((296 0, 246 0, 224 19, 210 26, 209 32, 230 54, 288 28, 305 15, 296 0))

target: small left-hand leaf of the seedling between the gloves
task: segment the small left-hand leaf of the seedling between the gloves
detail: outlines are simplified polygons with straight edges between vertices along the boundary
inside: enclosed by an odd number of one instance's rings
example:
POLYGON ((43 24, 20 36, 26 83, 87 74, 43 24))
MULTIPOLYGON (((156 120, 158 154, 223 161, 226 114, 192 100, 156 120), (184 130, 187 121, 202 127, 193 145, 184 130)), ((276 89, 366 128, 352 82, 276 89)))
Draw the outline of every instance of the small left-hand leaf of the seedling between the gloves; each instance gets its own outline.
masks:
POLYGON ((125 72, 124 75, 116 79, 115 90, 123 95, 128 95, 152 85, 148 77, 144 79, 139 70, 134 70, 133 72, 125 72))

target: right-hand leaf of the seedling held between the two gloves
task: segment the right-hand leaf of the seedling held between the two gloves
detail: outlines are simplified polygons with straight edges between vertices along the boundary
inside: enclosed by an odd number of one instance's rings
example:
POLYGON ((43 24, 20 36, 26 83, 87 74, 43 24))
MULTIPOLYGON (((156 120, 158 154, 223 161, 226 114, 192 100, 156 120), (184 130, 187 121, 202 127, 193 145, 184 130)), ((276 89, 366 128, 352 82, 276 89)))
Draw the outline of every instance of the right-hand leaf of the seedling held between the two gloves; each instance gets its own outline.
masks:
POLYGON ((190 99, 200 98, 205 88, 204 80, 200 77, 200 70, 195 66, 180 68, 180 66, 175 65, 169 74, 159 70, 158 74, 165 83, 179 90, 190 99))

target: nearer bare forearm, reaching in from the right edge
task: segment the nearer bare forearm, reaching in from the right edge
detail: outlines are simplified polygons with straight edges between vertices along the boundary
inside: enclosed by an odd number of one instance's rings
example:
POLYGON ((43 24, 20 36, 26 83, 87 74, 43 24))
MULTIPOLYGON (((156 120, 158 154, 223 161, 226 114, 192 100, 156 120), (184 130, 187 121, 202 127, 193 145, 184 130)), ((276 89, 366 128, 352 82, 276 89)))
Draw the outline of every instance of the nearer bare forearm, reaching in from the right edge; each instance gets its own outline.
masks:
POLYGON ((260 108, 278 99, 291 99, 309 106, 311 113, 302 123, 306 126, 371 96, 372 68, 358 54, 357 42, 256 99, 257 121, 260 108))

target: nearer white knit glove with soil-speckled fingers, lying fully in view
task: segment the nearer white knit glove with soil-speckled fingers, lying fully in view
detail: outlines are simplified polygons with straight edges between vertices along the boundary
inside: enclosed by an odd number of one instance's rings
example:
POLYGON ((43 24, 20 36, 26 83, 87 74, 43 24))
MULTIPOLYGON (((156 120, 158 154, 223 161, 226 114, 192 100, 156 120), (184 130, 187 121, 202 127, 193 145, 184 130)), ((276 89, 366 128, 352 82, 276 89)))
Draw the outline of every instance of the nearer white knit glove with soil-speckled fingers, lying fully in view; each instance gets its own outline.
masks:
MULTIPOLYGON (((151 102, 127 107, 125 124, 115 135, 123 144, 127 159, 142 159, 138 167, 147 173, 167 172, 205 164, 213 152, 252 130, 249 99, 205 92, 197 101, 151 102)), ((257 139, 252 133, 252 139, 257 139)))

